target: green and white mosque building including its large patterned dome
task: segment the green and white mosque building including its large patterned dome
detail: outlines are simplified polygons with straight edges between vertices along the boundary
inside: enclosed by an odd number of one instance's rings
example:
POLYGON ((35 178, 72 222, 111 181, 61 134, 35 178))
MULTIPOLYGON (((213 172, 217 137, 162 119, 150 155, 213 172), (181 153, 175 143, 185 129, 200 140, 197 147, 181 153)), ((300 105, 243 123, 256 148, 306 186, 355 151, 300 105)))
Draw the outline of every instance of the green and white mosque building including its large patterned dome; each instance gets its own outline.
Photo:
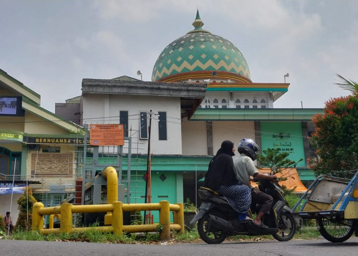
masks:
MULTIPOLYGON (((289 83, 253 82, 232 42, 204 30, 198 12, 193 26, 159 54, 151 82, 127 76, 82 81, 80 124, 122 123, 131 138, 124 153, 131 148, 133 203, 144 202, 150 121, 152 202, 196 203, 198 181, 223 140, 237 146, 252 138, 263 150, 279 147, 294 161, 310 156, 310 120, 322 109, 275 109, 289 83)), ((305 160, 297 169, 307 184, 314 176, 305 160)))

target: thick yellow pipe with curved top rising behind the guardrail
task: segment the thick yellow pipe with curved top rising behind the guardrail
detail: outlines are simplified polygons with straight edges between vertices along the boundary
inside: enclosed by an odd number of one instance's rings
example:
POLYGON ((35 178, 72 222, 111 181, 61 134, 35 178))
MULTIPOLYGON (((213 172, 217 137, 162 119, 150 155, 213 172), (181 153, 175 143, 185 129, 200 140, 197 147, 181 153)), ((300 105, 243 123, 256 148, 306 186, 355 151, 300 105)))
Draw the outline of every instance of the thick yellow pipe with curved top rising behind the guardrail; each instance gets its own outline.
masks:
MULTIPOLYGON (((107 204, 118 201, 118 175, 114 167, 106 167, 102 175, 107 179, 107 204)), ((108 211, 104 216, 104 225, 112 224, 112 212, 108 211)))

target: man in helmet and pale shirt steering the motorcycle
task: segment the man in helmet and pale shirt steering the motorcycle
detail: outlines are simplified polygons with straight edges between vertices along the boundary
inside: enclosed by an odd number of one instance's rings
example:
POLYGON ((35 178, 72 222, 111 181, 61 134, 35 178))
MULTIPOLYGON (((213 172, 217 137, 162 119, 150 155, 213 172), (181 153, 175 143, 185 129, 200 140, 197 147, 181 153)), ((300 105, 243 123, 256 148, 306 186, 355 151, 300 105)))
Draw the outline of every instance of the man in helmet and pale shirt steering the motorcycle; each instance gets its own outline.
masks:
POLYGON ((255 223, 261 224, 261 219, 264 214, 270 214, 273 198, 258 189, 254 189, 250 184, 252 177, 258 179, 276 179, 276 175, 264 175, 259 173, 254 165, 256 160, 256 152, 260 151, 260 147, 252 139, 242 139, 238 145, 237 151, 240 156, 234 160, 234 167, 236 177, 251 188, 252 209, 255 209, 256 204, 261 204, 260 211, 258 212, 255 223))

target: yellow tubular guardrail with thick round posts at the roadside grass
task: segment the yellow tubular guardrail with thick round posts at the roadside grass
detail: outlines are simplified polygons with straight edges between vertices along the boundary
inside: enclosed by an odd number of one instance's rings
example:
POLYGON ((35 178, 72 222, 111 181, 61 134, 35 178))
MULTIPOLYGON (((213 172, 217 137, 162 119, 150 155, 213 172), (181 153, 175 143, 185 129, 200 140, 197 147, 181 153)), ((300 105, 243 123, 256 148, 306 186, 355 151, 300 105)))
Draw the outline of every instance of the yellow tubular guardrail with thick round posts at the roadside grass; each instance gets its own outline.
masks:
POLYGON ((44 207, 42 203, 36 202, 32 207, 32 230, 39 230, 43 234, 85 231, 94 228, 102 231, 114 232, 117 234, 133 232, 155 232, 158 231, 158 224, 147 225, 123 225, 123 211, 149 211, 159 210, 159 225, 162 229, 159 231, 160 240, 170 238, 170 231, 179 231, 184 233, 184 206, 183 203, 170 204, 168 201, 150 204, 123 204, 122 202, 113 202, 111 204, 94 205, 73 205, 69 203, 61 206, 44 207), (173 211, 174 221, 170 223, 170 211, 173 211), (107 226, 101 227, 80 227, 72 226, 72 214, 84 212, 107 212, 107 226), (43 218, 50 215, 50 228, 43 228, 43 218), (53 218, 56 215, 60 219, 60 228, 53 228, 53 218), (109 220, 110 219, 110 220, 109 220))

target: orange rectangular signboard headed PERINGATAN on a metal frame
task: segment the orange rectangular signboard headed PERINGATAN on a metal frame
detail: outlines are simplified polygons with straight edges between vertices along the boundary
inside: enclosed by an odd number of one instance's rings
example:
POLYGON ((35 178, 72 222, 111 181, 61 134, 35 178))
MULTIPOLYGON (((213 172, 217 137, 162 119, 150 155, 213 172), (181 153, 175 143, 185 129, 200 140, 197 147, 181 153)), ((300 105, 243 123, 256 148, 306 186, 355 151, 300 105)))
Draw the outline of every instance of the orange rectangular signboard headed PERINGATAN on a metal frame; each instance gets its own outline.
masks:
POLYGON ((90 124, 89 139, 94 146, 123 146, 123 124, 90 124))

